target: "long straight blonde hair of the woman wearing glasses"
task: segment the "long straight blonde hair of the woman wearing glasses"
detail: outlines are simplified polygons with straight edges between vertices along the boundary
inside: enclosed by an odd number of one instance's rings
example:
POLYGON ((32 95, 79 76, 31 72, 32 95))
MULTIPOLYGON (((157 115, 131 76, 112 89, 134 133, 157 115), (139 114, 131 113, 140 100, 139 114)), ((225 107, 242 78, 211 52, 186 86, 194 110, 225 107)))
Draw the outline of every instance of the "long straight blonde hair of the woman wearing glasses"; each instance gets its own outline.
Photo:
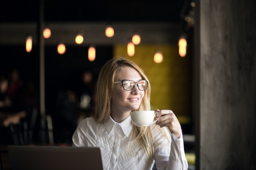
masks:
MULTIPOLYGON (((113 91, 113 82, 115 82, 119 76, 121 69, 124 67, 134 68, 142 77, 148 81, 144 71, 137 66, 134 62, 127 60, 122 57, 114 57, 109 60, 101 68, 99 73, 98 81, 96 84, 96 105, 94 118, 97 122, 105 122, 110 116, 111 107, 111 94, 113 91)), ((141 104, 137 110, 150 110, 150 83, 148 81, 148 88, 144 93, 144 97, 141 101, 141 104)), ((153 135, 148 127, 137 127, 132 124, 132 136, 135 135, 134 141, 138 141, 141 145, 146 159, 150 162, 153 160, 154 155, 154 146, 153 146, 153 135)))

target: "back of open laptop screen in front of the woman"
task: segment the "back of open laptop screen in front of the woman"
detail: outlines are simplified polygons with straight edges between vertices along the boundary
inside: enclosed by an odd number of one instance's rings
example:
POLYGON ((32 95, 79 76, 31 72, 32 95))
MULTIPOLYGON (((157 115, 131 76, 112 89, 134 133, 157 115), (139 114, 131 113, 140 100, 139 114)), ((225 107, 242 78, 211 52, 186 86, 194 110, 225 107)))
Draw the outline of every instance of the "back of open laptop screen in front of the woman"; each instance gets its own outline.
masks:
POLYGON ((12 170, 103 170, 100 148, 8 146, 12 170))

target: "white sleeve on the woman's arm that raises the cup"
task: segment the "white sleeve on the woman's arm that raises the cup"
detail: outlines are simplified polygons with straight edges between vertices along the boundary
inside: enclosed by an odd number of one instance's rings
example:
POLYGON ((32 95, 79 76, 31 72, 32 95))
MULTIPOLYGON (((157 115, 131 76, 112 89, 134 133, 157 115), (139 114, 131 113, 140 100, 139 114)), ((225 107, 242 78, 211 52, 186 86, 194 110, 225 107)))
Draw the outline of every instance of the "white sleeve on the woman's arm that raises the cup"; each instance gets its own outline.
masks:
POLYGON ((181 134, 180 139, 171 135, 168 140, 159 130, 156 131, 154 159, 157 170, 187 170, 188 162, 185 157, 183 135, 181 134))

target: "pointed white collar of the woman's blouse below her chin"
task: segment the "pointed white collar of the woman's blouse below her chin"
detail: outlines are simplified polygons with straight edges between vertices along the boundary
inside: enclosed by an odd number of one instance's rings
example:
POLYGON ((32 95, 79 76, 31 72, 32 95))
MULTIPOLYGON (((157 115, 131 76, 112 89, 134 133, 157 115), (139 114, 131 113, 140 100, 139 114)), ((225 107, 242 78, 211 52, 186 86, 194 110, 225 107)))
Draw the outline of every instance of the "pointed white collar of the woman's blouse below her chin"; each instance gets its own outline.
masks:
POLYGON ((130 134, 131 130, 132 130, 132 120, 131 117, 127 117, 124 121, 117 123, 115 122, 111 116, 109 116, 108 120, 105 122, 105 127, 106 130, 108 132, 108 134, 111 132, 111 130, 114 128, 115 124, 119 124, 121 129, 124 132, 124 135, 126 135, 126 137, 128 137, 128 135, 130 134))

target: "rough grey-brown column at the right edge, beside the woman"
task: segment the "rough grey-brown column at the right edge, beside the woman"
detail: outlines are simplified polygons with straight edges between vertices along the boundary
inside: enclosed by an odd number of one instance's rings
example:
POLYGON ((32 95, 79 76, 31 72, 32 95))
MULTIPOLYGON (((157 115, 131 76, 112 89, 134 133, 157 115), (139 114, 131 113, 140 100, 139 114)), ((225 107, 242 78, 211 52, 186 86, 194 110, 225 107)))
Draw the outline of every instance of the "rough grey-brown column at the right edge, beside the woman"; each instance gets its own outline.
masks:
POLYGON ((256 1, 197 0, 197 170, 256 170, 256 1))

